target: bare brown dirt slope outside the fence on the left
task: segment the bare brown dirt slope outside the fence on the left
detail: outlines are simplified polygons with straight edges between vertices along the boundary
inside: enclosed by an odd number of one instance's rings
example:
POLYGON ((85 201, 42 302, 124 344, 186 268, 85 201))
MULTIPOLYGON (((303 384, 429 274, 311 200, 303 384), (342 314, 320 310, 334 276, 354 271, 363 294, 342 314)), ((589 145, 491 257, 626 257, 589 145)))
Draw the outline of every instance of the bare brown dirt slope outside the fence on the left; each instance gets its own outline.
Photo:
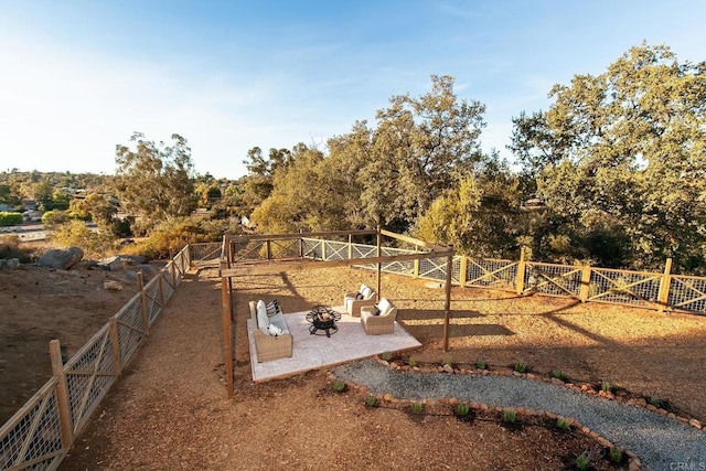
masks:
POLYGON ((137 291, 125 271, 0 270, 0 424, 52 376, 50 341, 58 339, 71 357, 137 291), (124 289, 106 290, 104 280, 124 289))

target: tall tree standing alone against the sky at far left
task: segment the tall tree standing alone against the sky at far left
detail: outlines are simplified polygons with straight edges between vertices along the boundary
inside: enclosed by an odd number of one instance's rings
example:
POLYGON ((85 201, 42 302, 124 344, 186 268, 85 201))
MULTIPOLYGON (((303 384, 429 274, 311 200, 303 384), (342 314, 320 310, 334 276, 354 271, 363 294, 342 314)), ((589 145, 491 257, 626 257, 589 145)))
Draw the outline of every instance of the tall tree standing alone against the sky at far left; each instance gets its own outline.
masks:
POLYGON ((142 228, 195 208, 191 149, 183 137, 171 138, 170 146, 156 144, 136 132, 130 138, 133 147, 116 146, 115 190, 122 207, 140 217, 142 228))

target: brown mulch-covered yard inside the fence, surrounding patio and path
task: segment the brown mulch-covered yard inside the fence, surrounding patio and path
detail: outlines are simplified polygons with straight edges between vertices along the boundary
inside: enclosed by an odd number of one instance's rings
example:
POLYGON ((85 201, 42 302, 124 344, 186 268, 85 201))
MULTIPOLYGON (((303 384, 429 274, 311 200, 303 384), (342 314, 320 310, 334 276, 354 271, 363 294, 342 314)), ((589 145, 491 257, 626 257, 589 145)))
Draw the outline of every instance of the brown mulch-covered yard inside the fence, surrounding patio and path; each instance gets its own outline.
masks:
MULTIPOLYGON (((84 283, 81 275, 61 275, 84 283)), ((448 413, 414 416, 395 407, 370 408, 363 392, 334 393, 325 371, 253 384, 247 301, 276 297, 286 311, 340 304, 344 291, 361 282, 376 283, 374 272, 354 268, 236 280, 236 385, 229 400, 224 388, 220 279, 214 275, 204 270, 184 279, 62 469, 534 470, 567 469, 582 451, 592 451, 595 460, 603 452, 584 435, 560 432, 530 418, 509 429, 492 416, 468 422, 448 413)), ((659 397, 683 415, 702 421, 706 417, 706 318, 453 288, 451 349, 445 353, 443 290, 391 275, 383 276, 382 285, 383 296, 400 307, 400 322, 424 344, 410 353, 421 364, 450 357, 457 365, 470 365, 482 357, 491 370, 506 370, 522 361, 536 375, 560 371, 575 383, 609 381, 619 390, 659 397)), ((89 291, 61 298, 62 306, 74 301, 73 308, 57 308, 60 298, 51 298, 50 312, 57 317, 87 306, 96 310, 99 304, 89 291)), ((18 301, 2 290, 0 302, 7 322, 6 307, 18 301)), ((96 314, 104 318, 95 328, 83 327, 85 339, 116 310, 110 304, 96 314)), ((68 324, 78 332, 81 322, 72 319, 68 324)), ((32 332, 40 329, 26 329, 29 349, 32 332)), ((35 353, 46 355, 49 365, 46 343, 40 349, 41 343, 35 353)), ((4 353, 2 358, 12 362, 4 353)), ((2 378, 4 384, 4 371, 2 378)), ((601 461, 596 468, 608 465, 601 461)))

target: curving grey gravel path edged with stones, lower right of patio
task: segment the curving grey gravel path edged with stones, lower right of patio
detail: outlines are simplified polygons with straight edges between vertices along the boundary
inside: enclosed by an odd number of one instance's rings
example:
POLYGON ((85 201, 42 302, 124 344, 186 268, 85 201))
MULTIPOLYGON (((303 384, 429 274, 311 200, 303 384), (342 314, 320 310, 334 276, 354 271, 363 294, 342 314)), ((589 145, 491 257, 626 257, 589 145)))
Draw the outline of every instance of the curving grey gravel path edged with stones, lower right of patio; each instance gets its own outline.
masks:
POLYGON ((571 417, 632 451, 648 470, 706 469, 706 433, 642 407, 532 379, 391 371, 374 360, 334 370, 340 379, 398 399, 454 397, 491 406, 531 408, 571 417))

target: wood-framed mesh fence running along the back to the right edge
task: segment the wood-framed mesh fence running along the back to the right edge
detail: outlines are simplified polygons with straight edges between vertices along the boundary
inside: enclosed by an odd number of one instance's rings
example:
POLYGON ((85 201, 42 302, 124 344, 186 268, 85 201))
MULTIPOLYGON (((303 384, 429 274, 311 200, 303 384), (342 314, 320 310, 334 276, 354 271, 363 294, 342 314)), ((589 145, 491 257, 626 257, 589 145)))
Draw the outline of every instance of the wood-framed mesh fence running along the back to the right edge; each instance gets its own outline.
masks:
MULTIPOLYGON (((373 258, 377 246, 302 238, 304 257, 319 260, 373 258)), ((381 247, 382 256, 415 250, 381 247)), ((382 270, 416 278, 446 281, 446 257, 386 261, 382 270)), ((355 267, 377 269, 376 264, 355 267)), ((587 266, 545 264, 454 256, 451 282, 472 288, 567 297, 646 309, 706 313, 706 278, 587 266), (661 297, 663 299, 661 299, 661 297)))

